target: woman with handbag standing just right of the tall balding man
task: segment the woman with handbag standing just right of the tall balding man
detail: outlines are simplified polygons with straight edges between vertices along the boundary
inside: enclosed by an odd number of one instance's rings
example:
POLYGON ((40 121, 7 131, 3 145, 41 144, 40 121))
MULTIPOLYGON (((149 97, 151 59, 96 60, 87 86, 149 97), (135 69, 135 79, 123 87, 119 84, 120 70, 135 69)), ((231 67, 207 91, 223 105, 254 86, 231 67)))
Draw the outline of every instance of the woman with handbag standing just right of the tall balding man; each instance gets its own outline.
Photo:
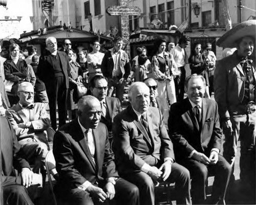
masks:
POLYGON ((69 79, 69 90, 68 90, 68 98, 67 98, 67 110, 68 110, 68 116, 69 121, 77 118, 77 104, 73 100, 73 93, 74 89, 76 88, 76 82, 81 80, 82 81, 82 69, 80 65, 74 60, 74 50, 68 49, 65 51, 65 53, 68 55, 69 63, 70 63, 70 79, 69 79))

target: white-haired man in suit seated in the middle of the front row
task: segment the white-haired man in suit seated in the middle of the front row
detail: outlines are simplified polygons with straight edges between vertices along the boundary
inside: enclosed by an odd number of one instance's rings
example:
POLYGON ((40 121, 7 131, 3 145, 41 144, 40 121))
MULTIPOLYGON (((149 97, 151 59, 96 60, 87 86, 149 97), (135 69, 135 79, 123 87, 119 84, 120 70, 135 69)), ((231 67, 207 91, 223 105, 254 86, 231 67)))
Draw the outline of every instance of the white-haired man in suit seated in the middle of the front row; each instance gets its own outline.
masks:
POLYGON ((175 162, 173 143, 161 111, 150 107, 150 89, 143 82, 129 88, 129 105, 113 125, 113 150, 121 177, 138 186, 141 204, 155 204, 155 185, 174 183, 177 204, 191 204, 189 171, 175 162))

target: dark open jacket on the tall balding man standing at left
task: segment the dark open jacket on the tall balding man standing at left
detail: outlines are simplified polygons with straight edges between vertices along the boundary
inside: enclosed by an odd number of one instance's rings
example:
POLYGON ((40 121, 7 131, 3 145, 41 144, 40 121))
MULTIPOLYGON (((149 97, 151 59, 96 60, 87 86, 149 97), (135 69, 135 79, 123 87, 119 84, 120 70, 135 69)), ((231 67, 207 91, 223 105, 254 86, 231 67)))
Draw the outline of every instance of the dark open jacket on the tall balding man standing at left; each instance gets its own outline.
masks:
MULTIPOLYGON (((66 53, 57 51, 57 55, 60 60, 60 67, 65 76, 66 88, 69 88, 69 76, 70 76, 70 64, 68 60, 68 56, 66 53)), ((39 59, 39 63, 37 66, 37 74, 38 77, 46 84, 46 85, 54 85, 54 68, 52 64, 52 58, 50 56, 50 52, 45 56, 41 56, 39 59)))

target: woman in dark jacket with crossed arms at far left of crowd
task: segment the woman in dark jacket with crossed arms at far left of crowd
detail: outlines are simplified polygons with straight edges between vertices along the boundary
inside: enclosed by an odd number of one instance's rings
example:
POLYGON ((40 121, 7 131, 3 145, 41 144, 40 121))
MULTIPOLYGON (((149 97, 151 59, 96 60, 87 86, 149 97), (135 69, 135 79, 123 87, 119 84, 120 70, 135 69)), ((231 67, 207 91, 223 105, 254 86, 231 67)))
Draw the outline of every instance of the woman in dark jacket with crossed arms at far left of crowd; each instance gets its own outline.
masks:
POLYGON ((19 59, 19 45, 12 43, 9 47, 10 56, 4 62, 5 88, 11 106, 19 101, 17 95, 18 85, 28 76, 28 66, 25 60, 19 59))

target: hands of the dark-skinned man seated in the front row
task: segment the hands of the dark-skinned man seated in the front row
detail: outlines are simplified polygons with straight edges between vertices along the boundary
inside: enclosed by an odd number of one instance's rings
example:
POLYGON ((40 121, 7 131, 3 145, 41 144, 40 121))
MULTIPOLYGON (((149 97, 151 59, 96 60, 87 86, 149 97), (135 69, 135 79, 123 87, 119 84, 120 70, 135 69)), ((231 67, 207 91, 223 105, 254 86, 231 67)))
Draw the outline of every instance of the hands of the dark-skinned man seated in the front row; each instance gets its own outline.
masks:
POLYGON ((104 202, 106 199, 112 200, 116 193, 114 185, 110 182, 107 182, 103 189, 90 185, 86 191, 100 202, 104 202))

